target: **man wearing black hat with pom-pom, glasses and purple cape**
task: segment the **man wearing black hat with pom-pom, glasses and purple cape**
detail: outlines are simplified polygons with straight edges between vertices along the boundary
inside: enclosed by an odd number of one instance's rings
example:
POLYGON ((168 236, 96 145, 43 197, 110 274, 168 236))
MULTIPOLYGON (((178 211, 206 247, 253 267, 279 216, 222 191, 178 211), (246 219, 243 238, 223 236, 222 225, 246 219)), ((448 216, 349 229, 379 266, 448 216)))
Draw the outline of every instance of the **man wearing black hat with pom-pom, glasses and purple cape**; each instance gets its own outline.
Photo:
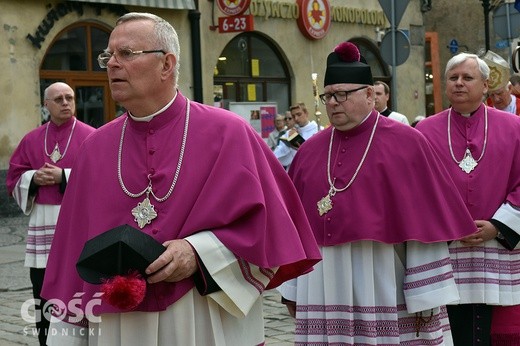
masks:
POLYGON ((477 229, 426 138, 374 109, 361 58, 350 42, 329 54, 332 126, 289 169, 323 257, 280 287, 295 344, 449 345, 447 242, 477 229))

